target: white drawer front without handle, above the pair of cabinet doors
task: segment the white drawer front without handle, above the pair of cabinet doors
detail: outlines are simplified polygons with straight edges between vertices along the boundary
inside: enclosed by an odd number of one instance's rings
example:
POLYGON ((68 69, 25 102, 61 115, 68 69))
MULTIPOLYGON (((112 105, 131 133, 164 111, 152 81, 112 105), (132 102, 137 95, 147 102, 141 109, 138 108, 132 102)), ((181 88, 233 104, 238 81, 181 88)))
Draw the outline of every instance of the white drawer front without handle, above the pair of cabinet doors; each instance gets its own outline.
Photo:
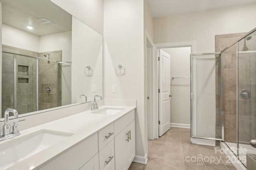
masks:
POLYGON ((134 120, 134 109, 114 122, 114 134, 118 135, 126 126, 134 120))

